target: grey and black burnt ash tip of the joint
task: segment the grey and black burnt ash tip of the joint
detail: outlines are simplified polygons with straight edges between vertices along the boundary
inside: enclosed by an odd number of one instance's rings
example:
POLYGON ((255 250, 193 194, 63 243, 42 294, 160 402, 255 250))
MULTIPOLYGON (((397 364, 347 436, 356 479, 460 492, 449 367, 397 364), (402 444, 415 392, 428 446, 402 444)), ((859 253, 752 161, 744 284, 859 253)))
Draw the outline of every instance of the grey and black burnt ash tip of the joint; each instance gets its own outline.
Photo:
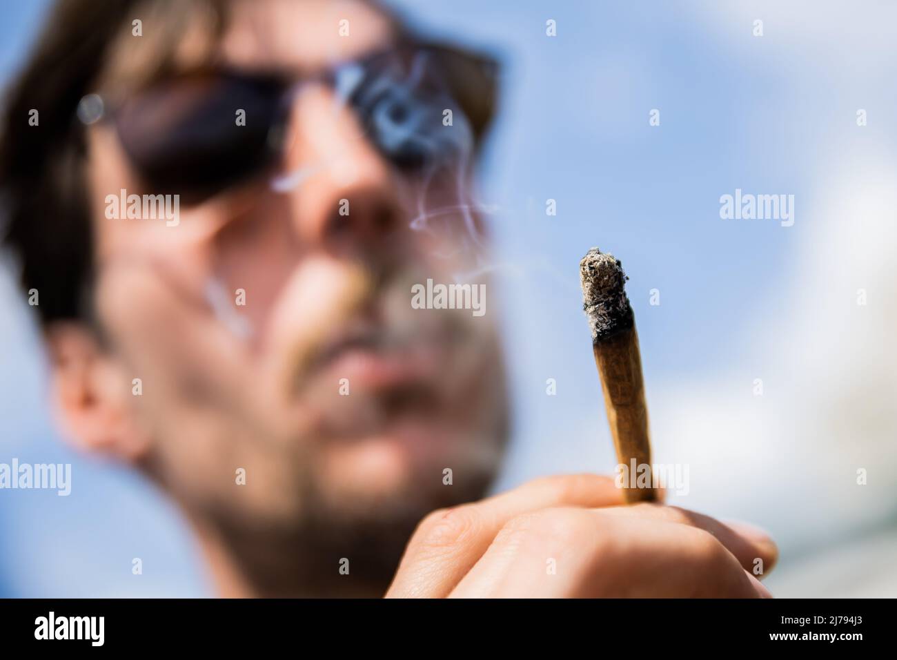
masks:
POLYGON ((632 327, 632 308, 624 288, 626 273, 613 254, 597 248, 579 261, 582 309, 586 312, 592 340, 601 341, 632 327))

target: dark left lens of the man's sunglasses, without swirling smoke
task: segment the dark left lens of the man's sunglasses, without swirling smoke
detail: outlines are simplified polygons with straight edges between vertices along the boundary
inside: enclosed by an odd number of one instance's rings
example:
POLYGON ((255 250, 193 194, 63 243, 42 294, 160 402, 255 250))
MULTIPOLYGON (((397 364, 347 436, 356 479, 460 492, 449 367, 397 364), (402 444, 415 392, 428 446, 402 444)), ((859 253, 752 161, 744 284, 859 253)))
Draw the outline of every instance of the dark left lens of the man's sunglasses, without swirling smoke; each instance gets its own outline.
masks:
POLYGON ((118 134, 147 185, 202 201, 270 164, 283 85, 216 75, 167 81, 118 112, 118 134))

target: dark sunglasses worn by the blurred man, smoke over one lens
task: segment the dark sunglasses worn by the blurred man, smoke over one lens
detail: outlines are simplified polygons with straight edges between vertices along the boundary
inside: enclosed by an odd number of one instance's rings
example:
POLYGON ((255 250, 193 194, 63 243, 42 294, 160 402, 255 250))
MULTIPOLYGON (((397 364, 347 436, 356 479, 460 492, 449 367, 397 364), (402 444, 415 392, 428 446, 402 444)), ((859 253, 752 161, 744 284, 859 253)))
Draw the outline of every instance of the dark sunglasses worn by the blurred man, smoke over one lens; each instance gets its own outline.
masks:
POLYGON ((414 172, 475 150, 492 118, 496 79, 489 57, 401 39, 300 81, 223 69, 167 77, 115 101, 91 93, 77 116, 114 126, 149 189, 197 204, 281 162, 292 100, 311 81, 332 87, 388 162, 414 172))

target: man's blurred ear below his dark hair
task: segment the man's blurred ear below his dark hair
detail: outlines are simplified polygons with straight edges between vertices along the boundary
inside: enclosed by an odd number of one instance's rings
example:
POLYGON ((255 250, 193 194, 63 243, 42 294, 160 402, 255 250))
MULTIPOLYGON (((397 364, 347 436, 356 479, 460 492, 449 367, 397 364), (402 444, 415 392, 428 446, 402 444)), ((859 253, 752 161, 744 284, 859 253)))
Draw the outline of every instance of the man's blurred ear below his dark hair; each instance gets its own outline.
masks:
POLYGON ((149 437, 136 424, 131 383, 81 323, 55 322, 46 333, 52 398, 65 438, 79 449, 138 461, 149 437))

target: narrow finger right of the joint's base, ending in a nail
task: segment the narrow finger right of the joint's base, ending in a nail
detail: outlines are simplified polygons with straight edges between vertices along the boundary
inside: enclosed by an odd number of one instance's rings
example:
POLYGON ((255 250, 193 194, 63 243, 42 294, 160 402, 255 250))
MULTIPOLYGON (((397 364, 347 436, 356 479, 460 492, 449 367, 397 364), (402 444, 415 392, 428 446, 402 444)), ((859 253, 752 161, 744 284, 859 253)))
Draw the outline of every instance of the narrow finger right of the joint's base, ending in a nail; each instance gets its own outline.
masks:
POLYGON ((678 506, 638 504, 605 509, 607 515, 639 516, 668 523, 687 524, 713 534, 726 549, 736 556, 742 567, 765 575, 779 559, 779 549, 769 534, 756 527, 720 523, 710 515, 703 515, 678 506))

